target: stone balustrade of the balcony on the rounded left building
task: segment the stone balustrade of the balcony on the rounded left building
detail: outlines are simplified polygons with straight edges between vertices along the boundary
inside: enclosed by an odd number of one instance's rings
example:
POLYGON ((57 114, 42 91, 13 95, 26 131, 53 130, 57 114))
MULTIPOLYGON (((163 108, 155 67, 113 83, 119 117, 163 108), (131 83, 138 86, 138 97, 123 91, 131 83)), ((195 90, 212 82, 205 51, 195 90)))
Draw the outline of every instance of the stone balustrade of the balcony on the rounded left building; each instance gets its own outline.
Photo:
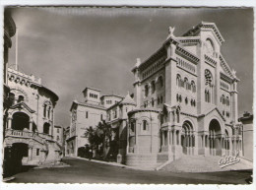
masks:
POLYGON ((45 140, 52 140, 53 137, 44 133, 34 133, 32 131, 21 131, 14 129, 7 129, 5 137, 20 137, 24 139, 33 139, 39 143, 44 143, 45 140))

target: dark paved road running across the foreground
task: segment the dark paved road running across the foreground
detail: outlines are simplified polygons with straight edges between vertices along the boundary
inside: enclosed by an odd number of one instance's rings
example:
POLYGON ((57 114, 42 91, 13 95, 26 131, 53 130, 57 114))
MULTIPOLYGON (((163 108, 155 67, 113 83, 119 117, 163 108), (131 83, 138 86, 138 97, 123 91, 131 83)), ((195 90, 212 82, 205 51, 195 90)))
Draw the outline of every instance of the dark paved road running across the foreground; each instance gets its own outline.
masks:
POLYGON ((246 184, 252 171, 214 173, 173 173, 143 171, 96 163, 78 158, 64 158, 70 167, 30 169, 15 175, 15 183, 141 183, 141 184, 246 184))

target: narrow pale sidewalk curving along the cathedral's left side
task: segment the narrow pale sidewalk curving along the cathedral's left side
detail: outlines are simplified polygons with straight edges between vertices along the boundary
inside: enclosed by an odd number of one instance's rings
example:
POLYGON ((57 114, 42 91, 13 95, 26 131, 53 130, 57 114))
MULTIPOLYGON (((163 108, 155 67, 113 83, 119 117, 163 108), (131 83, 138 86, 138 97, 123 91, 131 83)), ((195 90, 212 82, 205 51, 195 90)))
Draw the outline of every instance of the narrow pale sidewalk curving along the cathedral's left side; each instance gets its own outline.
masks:
POLYGON ((103 164, 108 164, 108 165, 113 165, 113 166, 118 166, 118 167, 122 167, 122 168, 129 168, 129 169, 137 169, 137 170, 155 170, 154 168, 146 168, 146 167, 141 167, 141 166, 129 166, 129 165, 125 165, 122 163, 117 163, 117 162, 110 162, 110 161, 103 161, 103 160, 97 160, 97 159, 89 159, 89 158, 80 158, 80 157, 67 157, 67 158, 78 158, 78 159, 82 159, 82 160, 88 160, 88 161, 94 161, 97 163, 103 163, 103 164))

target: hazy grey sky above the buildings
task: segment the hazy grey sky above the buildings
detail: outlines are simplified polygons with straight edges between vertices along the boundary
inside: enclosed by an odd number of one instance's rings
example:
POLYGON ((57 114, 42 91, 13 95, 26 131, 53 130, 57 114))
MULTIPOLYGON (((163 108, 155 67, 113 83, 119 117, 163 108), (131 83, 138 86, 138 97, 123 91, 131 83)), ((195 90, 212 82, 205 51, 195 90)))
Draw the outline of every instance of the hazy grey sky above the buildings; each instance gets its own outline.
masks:
MULTIPOLYGON (((55 125, 70 125, 70 107, 86 87, 132 93, 136 58, 147 59, 175 27, 182 35, 201 21, 216 23, 222 54, 240 79, 239 116, 252 112, 253 10, 235 8, 12 8, 19 29, 21 72, 42 79, 59 96, 55 125)), ((15 64, 16 40, 9 54, 15 64)))

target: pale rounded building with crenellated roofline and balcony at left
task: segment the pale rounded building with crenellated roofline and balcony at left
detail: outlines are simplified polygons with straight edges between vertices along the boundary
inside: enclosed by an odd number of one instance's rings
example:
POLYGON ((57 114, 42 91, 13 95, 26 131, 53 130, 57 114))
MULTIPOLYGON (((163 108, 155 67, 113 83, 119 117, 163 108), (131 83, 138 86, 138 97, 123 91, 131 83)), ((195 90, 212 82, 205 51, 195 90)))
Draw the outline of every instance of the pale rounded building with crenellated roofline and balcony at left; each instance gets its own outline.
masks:
POLYGON ((4 157, 11 164, 41 164, 60 159, 53 138, 54 108, 58 95, 41 79, 8 68, 10 106, 5 112, 4 157))

